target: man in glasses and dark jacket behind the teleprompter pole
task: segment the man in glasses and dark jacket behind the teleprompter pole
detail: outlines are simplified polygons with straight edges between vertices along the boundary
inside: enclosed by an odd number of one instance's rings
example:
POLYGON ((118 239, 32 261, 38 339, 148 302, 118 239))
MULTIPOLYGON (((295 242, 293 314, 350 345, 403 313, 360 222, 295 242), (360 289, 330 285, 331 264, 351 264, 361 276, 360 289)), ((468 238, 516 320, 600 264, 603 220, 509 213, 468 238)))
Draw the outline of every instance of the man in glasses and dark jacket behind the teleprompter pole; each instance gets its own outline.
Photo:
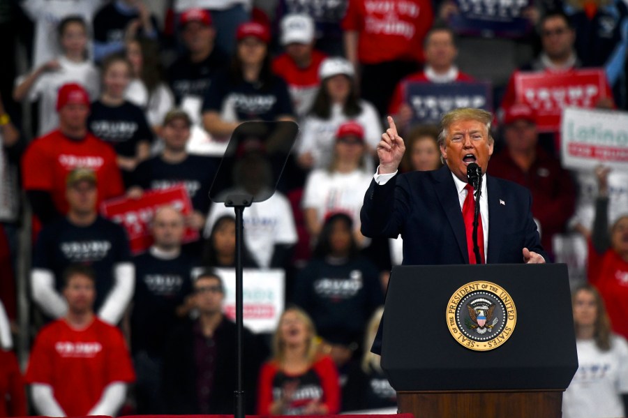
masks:
MULTIPOLYGON (((174 329, 167 339, 163 394, 168 414, 232 414, 237 388, 236 324, 223 314, 223 280, 209 271, 193 283, 198 316, 174 329)), ((245 412, 255 410, 257 372, 268 350, 244 329, 245 412)))

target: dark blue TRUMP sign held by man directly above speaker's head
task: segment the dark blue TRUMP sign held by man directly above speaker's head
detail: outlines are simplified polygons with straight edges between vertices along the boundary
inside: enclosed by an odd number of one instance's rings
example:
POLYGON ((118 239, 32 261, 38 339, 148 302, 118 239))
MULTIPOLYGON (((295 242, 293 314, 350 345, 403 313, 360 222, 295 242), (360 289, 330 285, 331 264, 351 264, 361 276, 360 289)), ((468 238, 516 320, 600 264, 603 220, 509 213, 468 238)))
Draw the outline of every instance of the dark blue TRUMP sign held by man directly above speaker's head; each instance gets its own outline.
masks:
POLYGON ((405 102, 412 108, 412 122, 417 124, 438 125, 442 114, 458 107, 493 111, 488 82, 407 82, 405 102))

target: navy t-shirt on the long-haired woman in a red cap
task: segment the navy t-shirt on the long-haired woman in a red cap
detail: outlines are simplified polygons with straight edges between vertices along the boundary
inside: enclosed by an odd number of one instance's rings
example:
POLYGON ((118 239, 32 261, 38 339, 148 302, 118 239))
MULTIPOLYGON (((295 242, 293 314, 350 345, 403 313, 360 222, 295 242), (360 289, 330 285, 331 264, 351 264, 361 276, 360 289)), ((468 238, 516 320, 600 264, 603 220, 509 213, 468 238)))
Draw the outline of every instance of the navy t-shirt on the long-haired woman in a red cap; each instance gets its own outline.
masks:
POLYGON ((285 81, 276 75, 265 84, 234 83, 227 72, 216 75, 205 95, 203 111, 220 113, 227 100, 239 121, 274 121, 280 115, 294 114, 285 81))

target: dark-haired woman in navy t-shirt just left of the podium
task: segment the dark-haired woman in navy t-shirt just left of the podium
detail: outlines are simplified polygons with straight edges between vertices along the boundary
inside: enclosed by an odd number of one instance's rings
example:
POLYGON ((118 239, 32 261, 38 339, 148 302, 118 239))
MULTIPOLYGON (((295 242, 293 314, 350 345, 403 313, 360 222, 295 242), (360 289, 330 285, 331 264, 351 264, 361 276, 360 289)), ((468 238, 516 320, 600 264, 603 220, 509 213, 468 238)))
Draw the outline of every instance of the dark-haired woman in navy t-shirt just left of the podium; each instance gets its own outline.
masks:
POLYGON ((294 288, 294 303, 312 316, 324 352, 345 365, 363 341, 368 318, 384 303, 377 269, 359 254, 350 216, 327 218, 294 288))

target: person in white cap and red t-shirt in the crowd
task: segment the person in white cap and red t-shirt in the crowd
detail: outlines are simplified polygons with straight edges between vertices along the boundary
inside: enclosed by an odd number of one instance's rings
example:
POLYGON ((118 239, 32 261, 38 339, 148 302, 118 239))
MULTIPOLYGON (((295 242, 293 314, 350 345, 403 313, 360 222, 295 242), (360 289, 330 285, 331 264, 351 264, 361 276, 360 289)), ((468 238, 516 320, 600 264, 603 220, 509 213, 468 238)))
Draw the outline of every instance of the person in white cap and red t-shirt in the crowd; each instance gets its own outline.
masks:
POLYGON ((314 20, 308 15, 287 15, 281 20, 285 53, 273 61, 273 73, 285 80, 299 117, 309 112, 320 80, 318 68, 326 55, 314 49, 314 20))

